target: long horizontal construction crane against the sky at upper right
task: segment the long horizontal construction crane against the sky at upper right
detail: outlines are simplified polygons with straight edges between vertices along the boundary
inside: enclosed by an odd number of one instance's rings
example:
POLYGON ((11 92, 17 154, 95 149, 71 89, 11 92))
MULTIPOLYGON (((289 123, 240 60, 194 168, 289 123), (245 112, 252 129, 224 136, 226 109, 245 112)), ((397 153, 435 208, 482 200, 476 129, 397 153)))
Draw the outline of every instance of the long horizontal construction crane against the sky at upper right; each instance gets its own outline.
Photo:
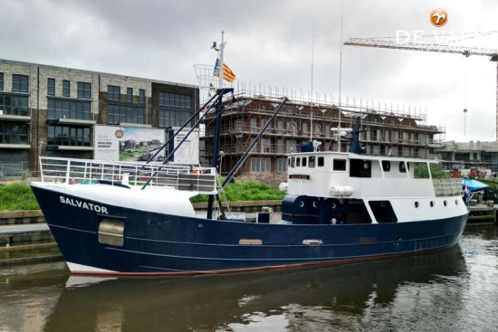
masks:
POLYGON ((465 57, 471 55, 484 55, 489 56, 490 61, 496 62, 496 142, 498 142, 498 51, 493 49, 473 48, 465 46, 448 46, 442 44, 429 44, 429 43, 396 43, 393 41, 384 41, 378 39, 368 38, 350 38, 345 45, 350 46, 363 46, 363 47, 376 47, 395 50, 409 50, 409 51, 422 51, 422 52, 440 52, 440 53, 456 53, 462 54, 465 57))

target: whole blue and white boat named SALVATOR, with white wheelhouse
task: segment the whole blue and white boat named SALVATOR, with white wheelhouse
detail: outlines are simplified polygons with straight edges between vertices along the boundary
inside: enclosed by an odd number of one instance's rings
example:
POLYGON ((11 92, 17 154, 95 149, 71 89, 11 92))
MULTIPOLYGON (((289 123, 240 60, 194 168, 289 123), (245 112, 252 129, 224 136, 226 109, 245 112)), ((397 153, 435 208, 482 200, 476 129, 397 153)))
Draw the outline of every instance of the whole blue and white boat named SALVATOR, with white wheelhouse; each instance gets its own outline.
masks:
MULTIPOLYGON (((216 111, 229 91, 217 91, 216 111)), ((367 156, 359 132, 357 119, 348 152, 319 151, 313 142, 288 155, 277 223, 196 214, 190 197, 209 194, 212 210, 219 193, 215 164, 42 157, 42 181, 31 186, 72 274, 249 272, 453 246, 468 215, 459 180, 432 178, 434 160, 367 156)))

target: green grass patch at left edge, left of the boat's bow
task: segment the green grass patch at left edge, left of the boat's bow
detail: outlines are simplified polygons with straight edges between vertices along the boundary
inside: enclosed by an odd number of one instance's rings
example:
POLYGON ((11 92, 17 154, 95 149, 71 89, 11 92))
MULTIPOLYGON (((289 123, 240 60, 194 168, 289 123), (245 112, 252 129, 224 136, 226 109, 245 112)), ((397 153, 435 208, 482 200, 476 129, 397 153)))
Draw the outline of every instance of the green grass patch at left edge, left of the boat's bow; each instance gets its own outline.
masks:
POLYGON ((39 210, 29 185, 1 185, 0 211, 39 210))

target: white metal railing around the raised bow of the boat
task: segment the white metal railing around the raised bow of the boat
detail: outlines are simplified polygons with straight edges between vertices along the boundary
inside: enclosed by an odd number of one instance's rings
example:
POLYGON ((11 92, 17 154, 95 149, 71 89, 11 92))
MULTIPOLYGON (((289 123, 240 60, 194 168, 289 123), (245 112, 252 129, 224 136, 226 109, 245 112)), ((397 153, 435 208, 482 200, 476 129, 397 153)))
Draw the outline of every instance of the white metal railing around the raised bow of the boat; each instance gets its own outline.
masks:
POLYGON ((217 192, 215 168, 208 167, 40 157, 40 168, 43 182, 141 187, 152 177, 151 186, 171 186, 199 194, 217 192))

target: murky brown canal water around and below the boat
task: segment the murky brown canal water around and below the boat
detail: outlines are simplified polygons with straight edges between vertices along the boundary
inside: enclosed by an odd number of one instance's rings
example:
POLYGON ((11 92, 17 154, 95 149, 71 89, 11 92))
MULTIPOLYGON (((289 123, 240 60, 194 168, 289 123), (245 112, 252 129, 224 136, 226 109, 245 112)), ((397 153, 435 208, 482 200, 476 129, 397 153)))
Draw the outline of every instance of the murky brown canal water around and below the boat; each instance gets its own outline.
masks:
POLYGON ((183 279, 70 277, 63 262, 0 269, 7 331, 493 331, 498 235, 324 269, 183 279))

